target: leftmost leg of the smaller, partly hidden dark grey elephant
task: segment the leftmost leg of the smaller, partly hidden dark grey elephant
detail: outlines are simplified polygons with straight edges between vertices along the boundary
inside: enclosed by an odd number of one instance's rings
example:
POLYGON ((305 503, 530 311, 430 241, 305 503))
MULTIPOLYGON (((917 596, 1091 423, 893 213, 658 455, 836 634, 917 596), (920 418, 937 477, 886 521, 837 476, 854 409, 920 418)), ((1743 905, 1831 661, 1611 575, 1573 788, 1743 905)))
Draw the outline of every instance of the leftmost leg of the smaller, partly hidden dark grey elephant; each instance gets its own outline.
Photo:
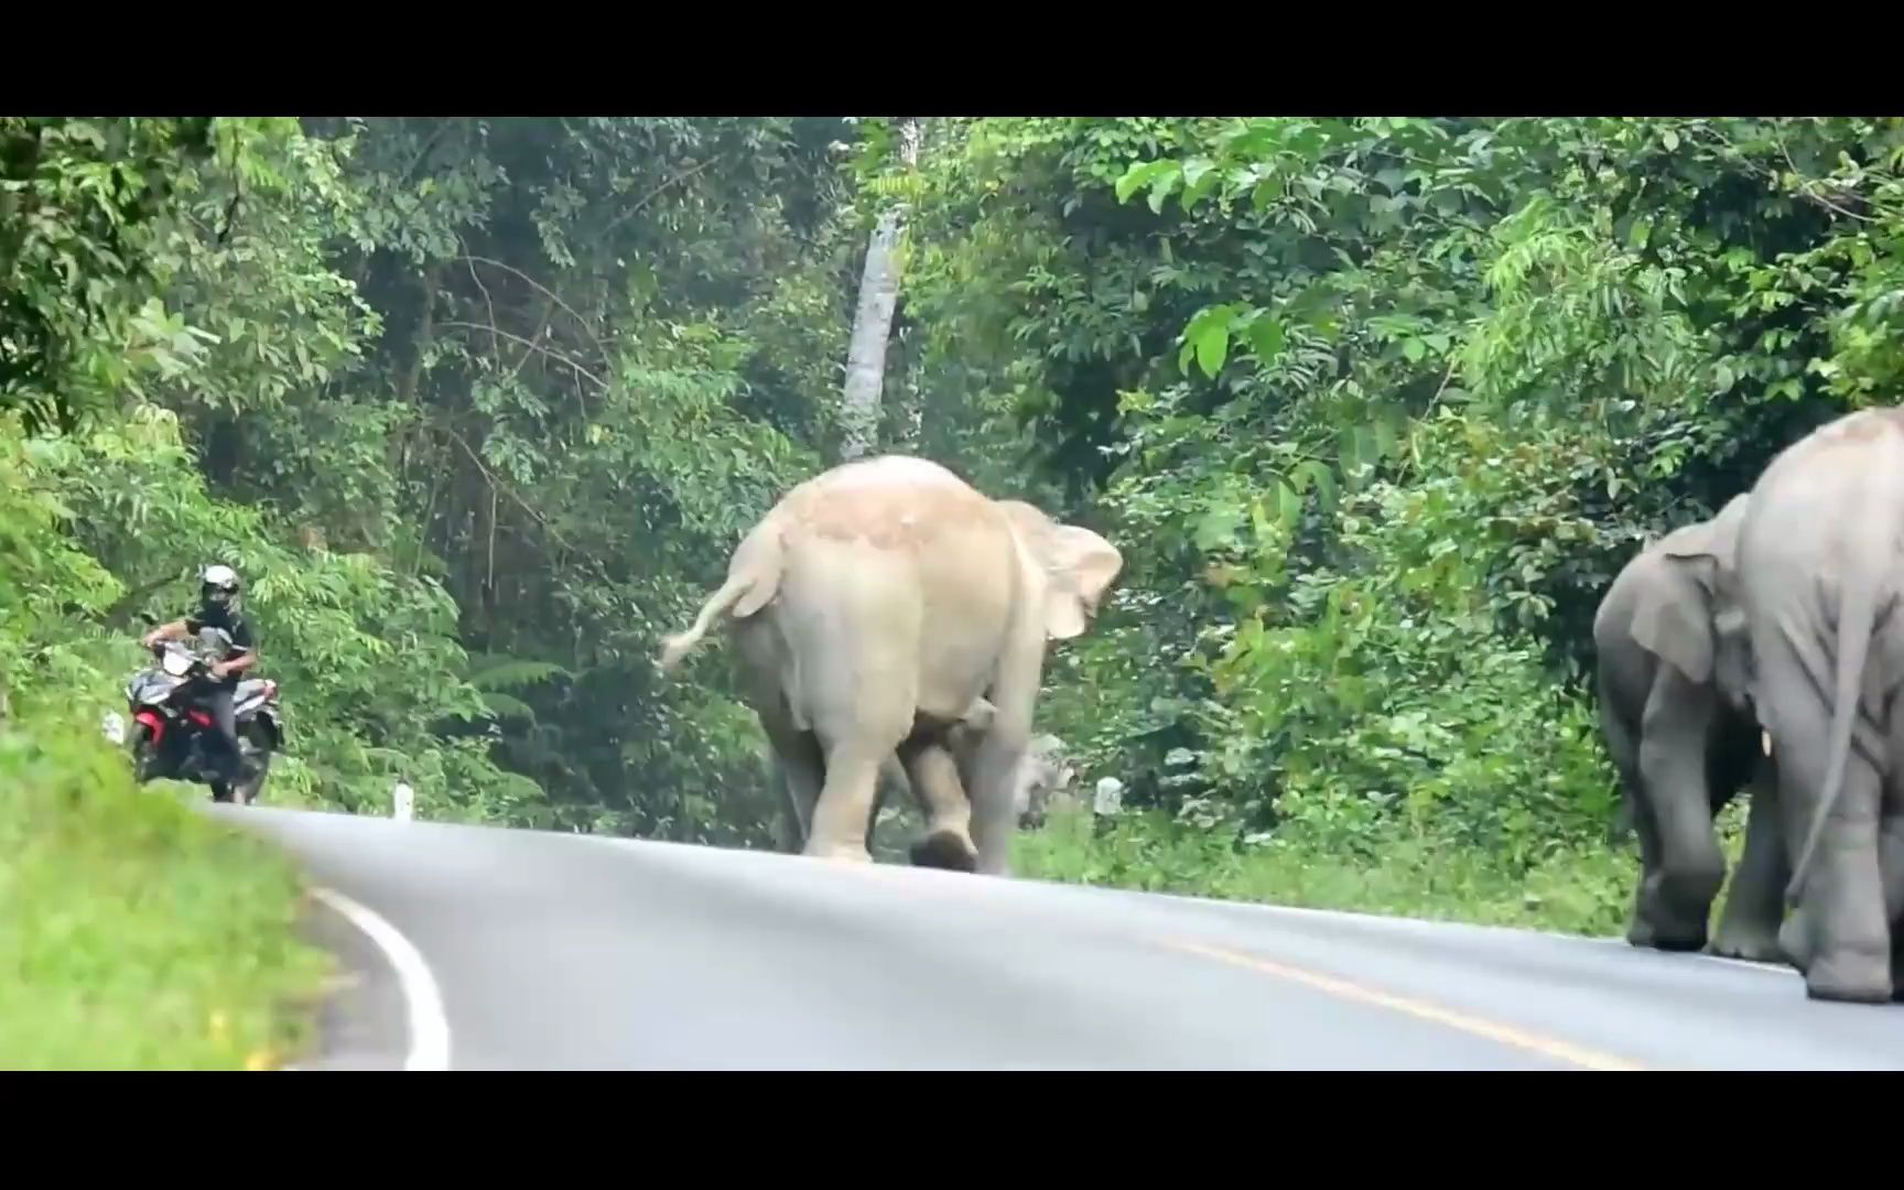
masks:
POLYGON ((1725 855, 1712 830, 1706 733, 1714 703, 1674 670, 1660 670, 1639 722, 1639 783, 1656 832, 1658 866, 1641 878, 1636 916, 1660 950, 1706 944, 1725 855))

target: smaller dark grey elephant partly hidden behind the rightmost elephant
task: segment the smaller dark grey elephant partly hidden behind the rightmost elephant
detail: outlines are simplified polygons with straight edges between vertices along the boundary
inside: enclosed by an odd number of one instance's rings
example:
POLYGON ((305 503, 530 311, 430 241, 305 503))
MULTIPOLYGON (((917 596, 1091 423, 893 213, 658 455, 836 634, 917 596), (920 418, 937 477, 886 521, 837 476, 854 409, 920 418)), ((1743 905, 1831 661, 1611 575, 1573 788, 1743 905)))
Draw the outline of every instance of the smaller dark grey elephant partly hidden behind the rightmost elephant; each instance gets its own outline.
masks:
POLYGON ((1674 529, 1636 554, 1594 615, 1601 735, 1639 832, 1639 885, 1626 939, 1698 950, 1725 880, 1714 817, 1752 788, 1746 851, 1725 901, 1716 954, 1782 962, 1786 880, 1775 765, 1750 710, 1742 613, 1731 602, 1748 506, 1674 529))

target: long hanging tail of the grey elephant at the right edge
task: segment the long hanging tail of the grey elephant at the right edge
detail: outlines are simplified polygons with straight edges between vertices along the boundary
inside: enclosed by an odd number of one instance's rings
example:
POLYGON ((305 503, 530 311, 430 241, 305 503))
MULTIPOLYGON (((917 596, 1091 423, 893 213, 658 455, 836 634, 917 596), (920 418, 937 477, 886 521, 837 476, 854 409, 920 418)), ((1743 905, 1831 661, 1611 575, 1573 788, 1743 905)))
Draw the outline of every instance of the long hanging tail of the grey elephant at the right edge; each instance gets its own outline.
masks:
POLYGON ((1805 876, 1811 872, 1811 857, 1824 834, 1824 823, 1837 807, 1837 796, 1845 788, 1845 767, 1851 764, 1851 737, 1858 724, 1858 710, 1864 695, 1864 663, 1870 657, 1872 630, 1877 619, 1877 596, 1891 575, 1893 556, 1898 541, 1898 514, 1904 512, 1904 440, 1885 428, 1879 438, 1879 457, 1868 463, 1874 478, 1860 501, 1860 516, 1853 518, 1851 548, 1847 550, 1845 579, 1839 586, 1837 604, 1837 672, 1832 687, 1832 727, 1828 733, 1830 758, 1824 769, 1824 786, 1818 809, 1811 815, 1805 832, 1805 845, 1792 864, 1792 883, 1786 885, 1786 904, 1795 904, 1805 876), (1870 514, 1862 514, 1870 508, 1870 514))

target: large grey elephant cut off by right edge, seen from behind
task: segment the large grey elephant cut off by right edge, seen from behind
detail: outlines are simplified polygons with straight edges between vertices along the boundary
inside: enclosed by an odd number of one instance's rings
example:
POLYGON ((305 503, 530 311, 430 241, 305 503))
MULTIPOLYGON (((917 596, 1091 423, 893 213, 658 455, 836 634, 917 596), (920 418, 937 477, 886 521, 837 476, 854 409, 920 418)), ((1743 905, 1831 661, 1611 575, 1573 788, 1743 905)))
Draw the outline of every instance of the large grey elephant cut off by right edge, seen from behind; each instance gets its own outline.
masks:
POLYGON ((1904 409, 1780 451, 1738 531, 1752 701, 1792 851, 1780 946, 1811 1000, 1898 990, 1904 910, 1904 409))

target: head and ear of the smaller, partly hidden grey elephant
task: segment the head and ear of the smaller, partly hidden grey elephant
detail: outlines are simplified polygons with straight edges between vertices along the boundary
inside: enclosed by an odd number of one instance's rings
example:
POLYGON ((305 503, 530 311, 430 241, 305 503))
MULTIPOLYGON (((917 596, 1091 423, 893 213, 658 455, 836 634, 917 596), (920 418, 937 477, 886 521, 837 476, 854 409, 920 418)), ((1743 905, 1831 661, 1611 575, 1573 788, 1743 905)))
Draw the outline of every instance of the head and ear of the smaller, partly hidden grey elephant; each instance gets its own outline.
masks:
POLYGON ((1634 640, 1693 682, 1712 682, 1735 710, 1750 689, 1750 638, 1738 609, 1738 527, 1746 497, 1712 520, 1683 526, 1653 546, 1672 581, 1649 583, 1634 604, 1634 640))

